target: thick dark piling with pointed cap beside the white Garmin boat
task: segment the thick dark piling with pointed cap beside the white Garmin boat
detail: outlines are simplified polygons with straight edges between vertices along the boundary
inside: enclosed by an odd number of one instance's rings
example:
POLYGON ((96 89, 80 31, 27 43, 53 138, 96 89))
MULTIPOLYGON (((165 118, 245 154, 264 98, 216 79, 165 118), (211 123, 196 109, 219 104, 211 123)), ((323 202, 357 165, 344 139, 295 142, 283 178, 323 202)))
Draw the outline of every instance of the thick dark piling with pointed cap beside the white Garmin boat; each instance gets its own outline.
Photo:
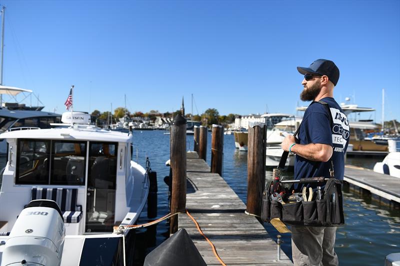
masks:
MULTIPOLYGON (((170 135, 170 156, 172 170, 171 214, 186 209, 186 119, 177 114, 172 121, 170 135)), ((178 217, 170 218, 169 233, 178 230, 178 217)))

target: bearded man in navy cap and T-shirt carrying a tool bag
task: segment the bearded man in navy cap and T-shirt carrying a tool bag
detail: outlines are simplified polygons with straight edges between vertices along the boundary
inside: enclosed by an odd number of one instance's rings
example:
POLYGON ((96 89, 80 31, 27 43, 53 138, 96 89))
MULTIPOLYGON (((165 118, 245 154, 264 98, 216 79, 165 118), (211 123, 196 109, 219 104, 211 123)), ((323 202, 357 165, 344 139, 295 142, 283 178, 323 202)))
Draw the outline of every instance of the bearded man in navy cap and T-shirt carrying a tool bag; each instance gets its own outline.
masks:
MULTIPOLYGON (((287 136, 281 146, 296 154, 294 178, 329 177, 333 162, 334 177, 343 180, 344 154, 349 140, 347 118, 333 99, 333 88, 339 79, 339 69, 330 60, 318 59, 309 67, 297 67, 304 75, 302 101, 324 101, 327 108, 313 102, 306 109, 297 138, 287 136)), ((335 227, 291 227, 292 256, 295 266, 336 266, 334 252, 335 227)))

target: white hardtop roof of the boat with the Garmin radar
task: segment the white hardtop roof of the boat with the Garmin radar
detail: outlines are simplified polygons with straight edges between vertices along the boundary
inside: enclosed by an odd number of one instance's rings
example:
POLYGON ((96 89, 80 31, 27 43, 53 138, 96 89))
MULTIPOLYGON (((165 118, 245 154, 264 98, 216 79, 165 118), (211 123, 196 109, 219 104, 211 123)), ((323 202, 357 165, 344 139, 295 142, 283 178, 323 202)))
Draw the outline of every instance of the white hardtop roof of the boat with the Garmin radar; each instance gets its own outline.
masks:
POLYGON ((102 142, 132 142, 132 134, 109 131, 90 125, 68 128, 14 130, 0 134, 0 139, 61 139, 102 142))

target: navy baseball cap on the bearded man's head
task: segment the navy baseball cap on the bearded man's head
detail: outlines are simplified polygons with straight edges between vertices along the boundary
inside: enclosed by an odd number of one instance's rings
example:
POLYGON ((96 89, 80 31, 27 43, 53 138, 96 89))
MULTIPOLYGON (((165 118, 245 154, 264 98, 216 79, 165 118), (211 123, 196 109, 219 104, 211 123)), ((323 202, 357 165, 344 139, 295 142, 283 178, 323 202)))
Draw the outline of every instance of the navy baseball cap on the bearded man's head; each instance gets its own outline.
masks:
POLYGON ((329 80, 336 86, 339 80, 339 69, 333 61, 326 59, 317 59, 313 61, 309 67, 297 66, 298 72, 301 74, 315 74, 320 76, 328 76, 329 80))

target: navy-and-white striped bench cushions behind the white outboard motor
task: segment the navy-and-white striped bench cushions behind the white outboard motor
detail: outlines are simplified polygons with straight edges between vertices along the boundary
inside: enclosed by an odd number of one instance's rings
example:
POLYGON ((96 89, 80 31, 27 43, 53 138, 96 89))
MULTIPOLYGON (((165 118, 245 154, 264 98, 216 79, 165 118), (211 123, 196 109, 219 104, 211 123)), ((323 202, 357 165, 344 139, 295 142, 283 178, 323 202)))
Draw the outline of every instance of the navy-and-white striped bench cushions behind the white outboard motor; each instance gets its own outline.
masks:
POLYGON ((82 206, 76 205, 77 189, 32 188, 31 200, 53 200, 62 212, 64 223, 78 223, 82 206))

